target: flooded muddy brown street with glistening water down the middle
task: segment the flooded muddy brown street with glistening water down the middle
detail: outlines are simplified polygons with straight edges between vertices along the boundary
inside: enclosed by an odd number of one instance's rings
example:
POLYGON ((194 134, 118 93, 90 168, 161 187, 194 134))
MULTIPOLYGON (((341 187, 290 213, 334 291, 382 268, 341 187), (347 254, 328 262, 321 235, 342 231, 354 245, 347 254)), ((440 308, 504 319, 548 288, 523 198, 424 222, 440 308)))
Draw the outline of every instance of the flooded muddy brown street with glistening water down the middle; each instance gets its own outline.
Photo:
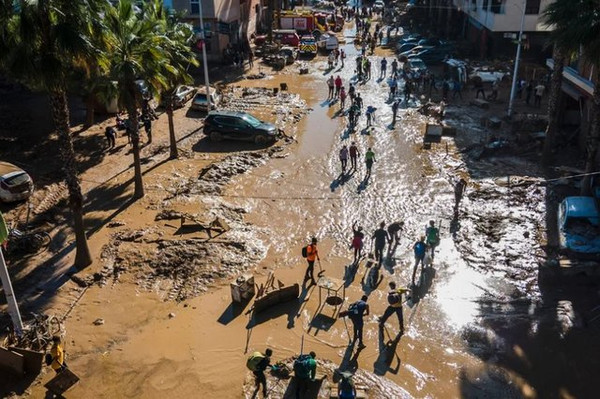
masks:
MULTIPOLYGON (((277 123, 285 139, 262 148, 190 133, 182 159, 152 165, 147 198, 114 214, 103 210, 111 216, 94 235, 95 269, 80 287, 69 281, 58 293, 78 301, 65 325, 69 364, 81 382, 68 397, 250 398, 248 356, 269 347, 274 361, 291 365, 301 343, 326 376, 319 398, 329 398, 337 371, 355 372, 370 398, 593 397, 596 363, 581 354, 597 353, 600 341, 582 328, 583 294, 540 278, 551 195, 542 171, 516 156, 473 157, 468 149, 487 134, 483 111, 462 101, 446 108, 444 123, 456 137, 425 148, 426 125, 437 123, 418 110, 427 93, 406 100, 401 82, 390 98, 388 78, 379 78, 381 60, 392 60, 388 49, 369 56, 372 77, 359 81, 355 30, 346 26, 344 68, 329 70, 319 56, 302 64, 308 74, 292 65, 229 85, 227 109, 277 123), (338 75, 363 98, 354 128, 349 99, 341 110, 327 98, 326 81, 338 75), (287 91, 275 94, 282 83, 287 91), (369 106, 376 109, 371 126, 369 106), (339 151, 352 143, 357 167, 342 172, 339 151), (375 154, 370 175, 368 149, 375 154), (461 178, 467 185, 455 212, 461 178), (354 224, 364 230, 366 255, 379 224, 400 221, 399 242, 386 245, 381 268, 367 257, 353 262, 354 224), (430 221, 441 240, 413 285, 413 245, 430 221), (319 287, 302 284, 301 249, 312 237, 320 255, 315 277, 342 282, 338 307, 319 287), (257 286, 271 273, 280 286, 302 284, 300 297, 253 313, 252 301, 231 300, 229 283, 246 273, 257 286), (395 316, 379 324, 390 282, 408 290, 404 334, 395 316), (340 311, 362 295, 370 314, 365 347, 357 348, 340 311)), ((44 397, 50 378, 23 395, 44 397)), ((287 379, 268 381, 270 397, 293 397, 287 379)))

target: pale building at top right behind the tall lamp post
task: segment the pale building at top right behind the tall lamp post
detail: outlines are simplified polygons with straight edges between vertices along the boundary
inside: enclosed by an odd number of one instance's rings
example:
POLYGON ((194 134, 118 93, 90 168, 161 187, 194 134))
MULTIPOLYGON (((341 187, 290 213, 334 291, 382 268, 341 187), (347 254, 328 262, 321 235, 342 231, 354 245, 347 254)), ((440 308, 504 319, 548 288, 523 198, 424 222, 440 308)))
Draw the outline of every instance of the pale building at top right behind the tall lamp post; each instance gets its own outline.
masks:
POLYGON ((482 57, 514 56, 523 19, 524 59, 545 59, 548 26, 542 21, 552 0, 452 0, 462 19, 460 36, 471 41, 482 57))

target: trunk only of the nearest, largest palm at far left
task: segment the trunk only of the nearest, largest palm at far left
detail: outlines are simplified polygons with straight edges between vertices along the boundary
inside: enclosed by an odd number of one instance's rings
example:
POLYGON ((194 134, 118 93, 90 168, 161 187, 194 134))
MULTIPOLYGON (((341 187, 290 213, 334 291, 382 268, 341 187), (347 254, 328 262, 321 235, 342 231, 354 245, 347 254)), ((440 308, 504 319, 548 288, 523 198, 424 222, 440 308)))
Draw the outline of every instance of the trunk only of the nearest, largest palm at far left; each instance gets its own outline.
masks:
POLYGON ((75 150, 73 149, 71 129, 69 128, 69 107, 66 92, 64 90, 51 92, 50 102, 52 105, 52 117, 58 133, 65 182, 69 190, 69 205, 73 214, 76 243, 75 267, 82 269, 92 264, 92 256, 88 247, 83 223, 83 194, 81 193, 81 185, 79 184, 77 167, 75 165, 75 150))

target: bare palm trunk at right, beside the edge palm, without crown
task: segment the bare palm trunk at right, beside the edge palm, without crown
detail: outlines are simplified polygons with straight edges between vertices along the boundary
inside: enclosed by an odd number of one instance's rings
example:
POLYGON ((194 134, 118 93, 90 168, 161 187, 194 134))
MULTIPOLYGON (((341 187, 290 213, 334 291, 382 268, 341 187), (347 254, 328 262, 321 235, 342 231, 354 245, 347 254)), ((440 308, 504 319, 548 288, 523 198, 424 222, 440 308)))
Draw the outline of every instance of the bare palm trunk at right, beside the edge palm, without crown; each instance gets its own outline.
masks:
POLYGON ((546 140, 544 141, 544 151, 542 153, 542 163, 545 166, 552 163, 552 151, 558 136, 558 105, 562 94, 562 74, 566 60, 566 57, 557 46, 554 46, 552 58, 554 58, 554 69, 552 70, 550 95, 548 96, 548 127, 546 128, 546 140))

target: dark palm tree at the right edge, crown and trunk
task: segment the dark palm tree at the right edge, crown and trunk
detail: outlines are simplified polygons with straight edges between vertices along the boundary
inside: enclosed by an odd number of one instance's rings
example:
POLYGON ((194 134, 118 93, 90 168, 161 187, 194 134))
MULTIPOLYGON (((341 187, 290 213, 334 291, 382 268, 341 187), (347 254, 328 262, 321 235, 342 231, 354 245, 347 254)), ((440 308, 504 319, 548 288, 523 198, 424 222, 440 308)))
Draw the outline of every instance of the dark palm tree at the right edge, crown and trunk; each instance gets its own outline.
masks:
POLYGON ((594 67, 592 121, 587 135, 586 176, 582 195, 590 193, 591 173, 596 169, 600 145, 600 13, 598 0, 556 0, 544 11, 546 23, 554 28, 553 40, 561 51, 580 53, 594 67))

